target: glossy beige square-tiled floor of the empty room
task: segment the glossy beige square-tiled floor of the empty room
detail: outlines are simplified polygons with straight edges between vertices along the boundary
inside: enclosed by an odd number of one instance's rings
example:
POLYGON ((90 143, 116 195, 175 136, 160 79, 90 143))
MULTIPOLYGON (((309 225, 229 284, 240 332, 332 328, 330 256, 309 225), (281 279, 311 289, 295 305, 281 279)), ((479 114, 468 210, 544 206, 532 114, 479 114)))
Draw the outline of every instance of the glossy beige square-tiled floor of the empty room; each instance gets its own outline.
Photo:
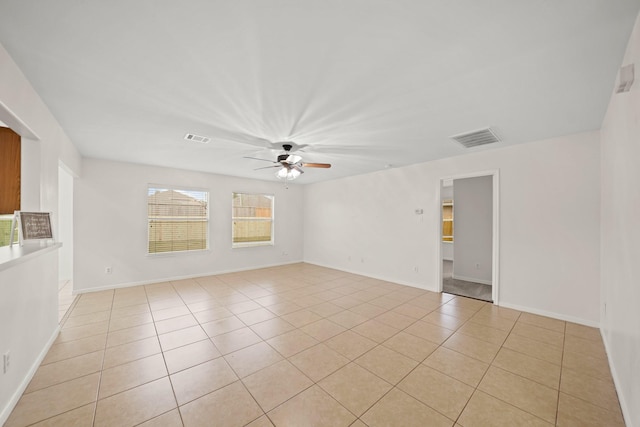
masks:
POLYGON ((596 329, 295 264, 81 295, 27 425, 624 422, 596 329))

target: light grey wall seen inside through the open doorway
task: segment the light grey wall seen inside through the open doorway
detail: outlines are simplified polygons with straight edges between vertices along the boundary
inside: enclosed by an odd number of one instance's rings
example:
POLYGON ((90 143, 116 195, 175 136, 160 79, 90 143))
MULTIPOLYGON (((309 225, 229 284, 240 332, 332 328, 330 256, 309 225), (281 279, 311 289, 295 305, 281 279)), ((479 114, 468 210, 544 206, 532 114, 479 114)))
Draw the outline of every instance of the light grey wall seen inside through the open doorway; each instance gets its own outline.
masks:
POLYGON ((491 284, 493 176, 453 181, 453 278, 491 284))

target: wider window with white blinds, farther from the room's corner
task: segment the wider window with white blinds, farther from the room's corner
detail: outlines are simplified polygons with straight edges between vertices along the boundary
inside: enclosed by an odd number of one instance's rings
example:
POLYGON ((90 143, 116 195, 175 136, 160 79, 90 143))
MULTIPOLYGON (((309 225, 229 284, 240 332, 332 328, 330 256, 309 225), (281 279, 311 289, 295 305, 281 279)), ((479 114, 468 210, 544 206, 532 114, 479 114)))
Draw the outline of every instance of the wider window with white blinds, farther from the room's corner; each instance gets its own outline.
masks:
POLYGON ((149 185, 150 254, 209 248, 209 193, 149 185))

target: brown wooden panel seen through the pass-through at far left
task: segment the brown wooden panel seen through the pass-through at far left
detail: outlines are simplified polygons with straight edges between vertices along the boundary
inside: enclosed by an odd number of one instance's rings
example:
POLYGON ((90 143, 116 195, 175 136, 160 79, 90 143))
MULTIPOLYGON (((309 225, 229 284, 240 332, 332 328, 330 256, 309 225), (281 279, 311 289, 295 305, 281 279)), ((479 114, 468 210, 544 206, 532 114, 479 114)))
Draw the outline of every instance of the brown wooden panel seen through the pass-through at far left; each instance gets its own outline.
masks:
POLYGON ((0 127, 0 214, 20 210, 20 135, 0 127))

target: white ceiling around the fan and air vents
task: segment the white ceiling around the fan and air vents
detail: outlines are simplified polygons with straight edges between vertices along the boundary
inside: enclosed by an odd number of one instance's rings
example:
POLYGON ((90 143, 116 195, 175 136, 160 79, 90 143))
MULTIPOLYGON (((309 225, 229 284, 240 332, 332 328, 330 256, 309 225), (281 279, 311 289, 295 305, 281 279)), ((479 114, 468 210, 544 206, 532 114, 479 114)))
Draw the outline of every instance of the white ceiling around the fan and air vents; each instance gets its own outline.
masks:
MULTIPOLYGON (((82 155, 297 181, 599 129, 638 0, 0 0, 0 43, 82 155), (492 126, 504 142, 449 136, 492 126), (187 142, 186 133, 212 138, 187 142)), ((388 167, 388 166, 387 166, 388 167)))

